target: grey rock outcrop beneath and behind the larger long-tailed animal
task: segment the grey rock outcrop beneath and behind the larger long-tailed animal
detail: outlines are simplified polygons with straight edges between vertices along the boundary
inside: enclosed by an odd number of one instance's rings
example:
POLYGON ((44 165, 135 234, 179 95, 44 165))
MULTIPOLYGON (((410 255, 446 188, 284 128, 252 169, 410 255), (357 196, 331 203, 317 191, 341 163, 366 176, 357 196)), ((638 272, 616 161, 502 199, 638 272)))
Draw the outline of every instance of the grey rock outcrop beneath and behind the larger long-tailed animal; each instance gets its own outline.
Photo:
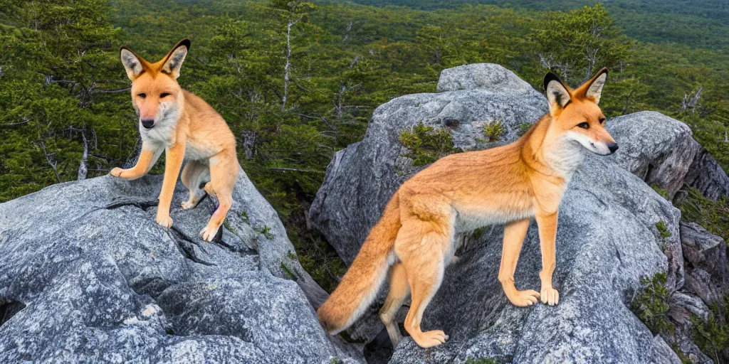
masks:
MULTIPOLYGON (((445 70, 437 90, 383 104, 364 139, 332 159, 310 215, 345 261, 356 256, 391 194, 424 167, 413 167, 405 157, 403 131, 423 123, 447 130, 456 147, 484 149, 514 141, 523 124, 547 111, 540 92, 496 65, 445 70), (498 142, 486 143, 483 127, 495 123, 505 132, 498 142)), ((682 122, 642 112, 607 124, 620 150, 611 157, 588 156, 561 205, 554 278, 560 304, 508 304, 496 279, 502 228, 491 227, 463 237, 461 261, 446 269, 426 309, 424 330, 443 329, 451 339, 423 350, 406 338, 391 363, 486 357, 514 363, 680 363, 666 340, 695 363, 709 363, 690 339, 687 317, 706 317, 706 305, 716 298, 706 292, 722 293, 725 243, 698 226, 682 225, 679 210, 648 183, 666 189, 669 198, 693 186, 715 199, 729 191, 729 178, 682 122), (668 274, 675 335, 654 336, 628 308, 642 278, 657 272, 668 274)), ((537 229, 531 226, 517 287, 539 288, 540 269, 537 229)), ((374 316, 350 333, 372 339, 381 328, 374 316)))

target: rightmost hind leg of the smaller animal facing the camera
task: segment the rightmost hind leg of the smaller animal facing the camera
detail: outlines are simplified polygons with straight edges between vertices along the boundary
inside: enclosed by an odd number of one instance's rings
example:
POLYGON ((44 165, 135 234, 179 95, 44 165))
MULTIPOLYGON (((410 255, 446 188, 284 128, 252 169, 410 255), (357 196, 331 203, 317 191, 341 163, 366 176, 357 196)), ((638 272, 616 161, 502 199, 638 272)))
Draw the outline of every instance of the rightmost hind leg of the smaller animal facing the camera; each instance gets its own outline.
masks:
POLYGON ((218 229, 225 221, 225 215, 233 205, 233 186, 238 179, 238 159, 235 151, 227 149, 210 158, 210 182, 205 191, 218 199, 218 208, 208 221, 208 225, 200 231, 203 240, 211 242, 218 229))

